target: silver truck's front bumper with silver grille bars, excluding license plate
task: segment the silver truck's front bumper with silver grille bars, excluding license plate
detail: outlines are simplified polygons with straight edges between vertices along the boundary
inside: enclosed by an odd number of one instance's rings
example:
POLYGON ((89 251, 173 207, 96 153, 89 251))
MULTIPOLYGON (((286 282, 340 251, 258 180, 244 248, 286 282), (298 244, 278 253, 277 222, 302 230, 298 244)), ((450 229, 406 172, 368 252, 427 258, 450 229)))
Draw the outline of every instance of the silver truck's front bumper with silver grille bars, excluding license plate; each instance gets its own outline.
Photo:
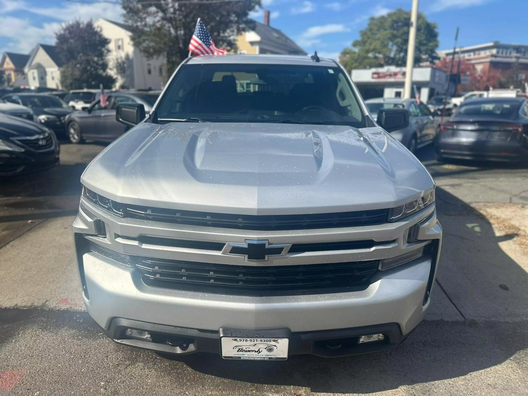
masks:
MULTIPOLYGON (((92 213, 112 230, 109 239, 118 235, 137 236, 138 233, 164 233, 165 236, 182 237, 190 234, 186 230, 167 230, 158 224, 159 228, 145 229, 138 224, 148 224, 141 220, 120 219, 109 213, 102 213, 89 202, 82 201, 92 213), (168 234, 168 235, 167 235, 168 234)), ((163 226, 169 227, 167 224, 163 226)), ((170 227, 178 228, 171 224, 170 227)), ((180 226, 183 228, 183 226, 180 226)), ((153 247, 120 244, 118 240, 102 241, 95 237, 95 225, 82 210, 73 224, 76 238, 107 244, 112 250, 141 256, 174 255, 174 252, 155 250, 153 247), (83 236, 84 234, 84 236, 83 236), (92 234, 92 236, 87 235, 92 234)), ((343 258, 353 260, 360 258, 388 258, 402 254, 406 249, 423 246, 430 243, 435 246, 430 253, 390 270, 378 271, 371 280, 371 284, 361 291, 343 293, 294 295, 294 296, 240 296, 212 293, 197 293, 178 289, 164 289, 147 286, 142 280, 142 274, 133 267, 103 257, 95 252, 78 254, 80 276, 83 286, 88 293, 83 294, 84 303, 93 319, 104 329, 106 334, 119 343, 145 347, 160 352, 192 353, 196 351, 218 352, 219 337, 224 328, 244 329, 254 333, 268 332, 282 329, 290 341, 289 354, 313 353, 324 356, 341 356, 351 353, 367 352, 392 347, 401 342, 422 320, 429 306, 429 293, 436 274, 436 264, 439 257, 441 242, 441 227, 436 218, 434 206, 410 216, 406 221, 379 226, 334 229, 336 235, 344 240, 397 240, 388 246, 376 246, 370 249, 353 249, 350 251, 318 252, 317 260, 333 258, 334 262, 341 262, 343 258), (410 227, 420 223, 418 242, 407 244, 407 232, 410 227), (327 253, 327 254, 326 254, 327 253), (336 256, 338 256, 336 258, 336 256), (150 343, 142 340, 132 340, 124 336, 125 328, 153 331, 171 337, 187 337, 194 340, 192 347, 182 350, 178 346, 166 343, 150 343), (373 329, 378 329, 374 332, 373 329), (369 333, 372 331, 372 333, 369 333), (354 345, 329 352, 321 347, 318 341, 334 338, 353 338, 358 335, 383 333, 386 340, 371 346, 354 345), (361 333, 361 334, 360 334, 361 333), (322 349, 321 349, 322 348, 322 349)), ((203 239, 226 238, 225 234, 204 233, 203 239)), ((234 239, 237 230, 224 230, 233 233, 229 239, 234 239)), ((328 230, 325 230, 327 232, 328 230)), ((321 235, 320 230, 298 231, 291 233, 291 238, 315 239, 337 238, 336 235, 321 235)), ((244 231, 241 238, 257 238, 261 235, 248 235, 261 231, 244 231)), ((268 235, 274 232, 265 232, 268 235)), ((287 238, 282 231, 281 238, 287 238)), ((270 236, 270 238, 272 235, 270 236)), ((196 239, 196 235, 193 239, 196 239)), ((332 239, 330 239, 332 240, 332 239)), ((178 254, 186 259, 192 258, 189 252, 178 254)), ((211 261, 216 258, 211 252, 204 253, 211 261), (209 256, 207 256, 209 255, 209 256)), ((196 255, 195 255, 196 257, 196 255)), ((236 258, 227 257, 228 260, 236 258)), ((305 263, 299 260, 309 260, 302 254, 291 257, 277 258, 294 263, 305 263)), ((314 260, 314 258, 311 258, 314 260)), ((201 257, 195 258, 202 261, 201 257)), ((291 263, 288 262, 288 263, 291 263)), ((268 265, 270 265, 268 263, 268 265)), ((277 264, 280 265, 280 264, 277 264)), ((316 265, 314 263, 314 265, 316 265)))

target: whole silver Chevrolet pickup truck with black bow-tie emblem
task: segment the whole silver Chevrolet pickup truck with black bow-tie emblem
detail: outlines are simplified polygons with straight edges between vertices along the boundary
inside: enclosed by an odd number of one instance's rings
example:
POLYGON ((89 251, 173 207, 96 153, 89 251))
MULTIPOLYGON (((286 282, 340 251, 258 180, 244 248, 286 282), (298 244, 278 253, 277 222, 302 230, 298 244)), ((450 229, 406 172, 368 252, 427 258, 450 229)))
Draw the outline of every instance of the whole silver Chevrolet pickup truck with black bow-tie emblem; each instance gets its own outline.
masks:
POLYGON ((435 184, 330 59, 196 56, 81 176, 82 297, 114 341, 224 359, 402 342, 430 305, 435 184), (137 125, 136 125, 137 124, 137 125), (384 128, 384 129, 383 129, 384 128))

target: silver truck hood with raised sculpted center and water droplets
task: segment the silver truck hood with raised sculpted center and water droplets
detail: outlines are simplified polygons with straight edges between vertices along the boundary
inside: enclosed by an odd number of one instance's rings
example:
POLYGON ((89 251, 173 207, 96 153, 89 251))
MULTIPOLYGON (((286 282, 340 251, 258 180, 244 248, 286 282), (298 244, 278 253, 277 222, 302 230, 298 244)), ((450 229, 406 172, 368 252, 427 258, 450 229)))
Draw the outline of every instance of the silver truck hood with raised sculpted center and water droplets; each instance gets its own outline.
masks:
POLYGON ((433 185, 380 128, 224 122, 139 124, 81 182, 122 203, 237 214, 391 208, 433 185))

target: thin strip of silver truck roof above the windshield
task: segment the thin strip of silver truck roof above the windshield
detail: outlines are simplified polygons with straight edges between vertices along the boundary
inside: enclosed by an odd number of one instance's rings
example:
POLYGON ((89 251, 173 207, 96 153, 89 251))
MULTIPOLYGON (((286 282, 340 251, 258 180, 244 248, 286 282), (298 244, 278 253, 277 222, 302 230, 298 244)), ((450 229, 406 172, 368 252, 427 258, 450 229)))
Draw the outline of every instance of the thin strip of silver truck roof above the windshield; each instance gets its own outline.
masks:
POLYGON ((193 56, 188 60, 188 64, 205 63, 251 63, 251 64, 295 64, 312 65, 323 67, 335 67, 336 62, 328 58, 320 58, 319 62, 313 61, 310 56, 304 55, 200 55, 193 56))

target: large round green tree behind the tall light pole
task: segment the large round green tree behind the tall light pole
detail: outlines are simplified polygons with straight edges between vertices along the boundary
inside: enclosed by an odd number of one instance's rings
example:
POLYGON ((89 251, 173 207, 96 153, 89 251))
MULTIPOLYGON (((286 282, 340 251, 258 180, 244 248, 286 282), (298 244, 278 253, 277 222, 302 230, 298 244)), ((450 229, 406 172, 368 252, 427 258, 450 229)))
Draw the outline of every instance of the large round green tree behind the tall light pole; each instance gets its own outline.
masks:
MULTIPOLYGON (((341 61, 347 70, 404 66, 407 62, 409 24, 411 13, 401 8, 386 15, 371 17, 369 25, 360 32, 360 39, 341 53, 341 61)), ((434 62, 438 59, 438 25, 428 22, 425 15, 418 13, 416 30, 416 51, 414 64, 434 62)))

